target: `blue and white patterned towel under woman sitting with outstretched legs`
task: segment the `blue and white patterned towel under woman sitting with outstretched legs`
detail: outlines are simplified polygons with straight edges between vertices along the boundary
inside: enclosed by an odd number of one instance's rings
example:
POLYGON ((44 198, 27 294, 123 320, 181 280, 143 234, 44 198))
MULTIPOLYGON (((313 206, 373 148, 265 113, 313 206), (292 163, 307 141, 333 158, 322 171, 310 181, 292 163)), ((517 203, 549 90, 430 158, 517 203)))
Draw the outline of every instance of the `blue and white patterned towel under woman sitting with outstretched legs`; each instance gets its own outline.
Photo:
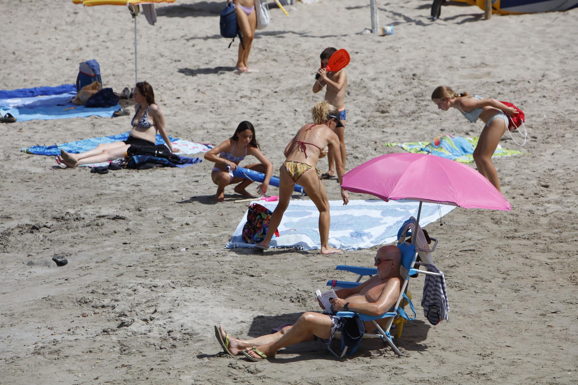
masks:
MULTIPOLYGON (((98 138, 90 138, 90 139, 82 139, 77 140, 76 142, 68 142, 62 143, 61 145, 53 145, 53 146, 31 146, 31 147, 24 147, 21 151, 27 154, 36 154, 36 155, 46 155, 46 156, 57 156, 60 155, 60 150, 64 150, 68 153, 79 154, 83 153, 84 151, 92 150, 96 146, 102 143, 113 143, 113 142, 121 142, 122 140, 126 140, 128 138, 128 134, 130 131, 125 132, 124 134, 118 135, 110 135, 110 136, 99 136, 98 138)), ((164 139, 162 139, 161 135, 157 134, 157 145, 162 145, 165 143, 164 139)), ((169 140, 173 145, 173 150, 177 155, 190 155, 190 154, 198 154, 198 153, 206 153, 214 146, 210 145, 209 143, 194 143, 188 140, 173 138, 169 135, 169 140)), ((97 166, 106 166, 110 162, 102 162, 102 163, 95 163, 95 164, 86 164, 83 166, 89 167, 97 167, 97 166)))

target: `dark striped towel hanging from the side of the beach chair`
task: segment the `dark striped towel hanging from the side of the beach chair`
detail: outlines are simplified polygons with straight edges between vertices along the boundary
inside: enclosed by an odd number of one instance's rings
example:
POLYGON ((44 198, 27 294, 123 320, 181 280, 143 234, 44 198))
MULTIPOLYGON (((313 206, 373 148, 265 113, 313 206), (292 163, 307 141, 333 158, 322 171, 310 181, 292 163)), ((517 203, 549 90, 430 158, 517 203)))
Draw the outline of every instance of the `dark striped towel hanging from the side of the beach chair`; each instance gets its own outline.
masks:
MULTIPOLYGON (((427 271, 440 273, 434 265, 427 265, 427 271)), ((426 275, 424 293, 421 299, 424 316, 432 325, 437 325, 443 319, 450 321, 450 304, 447 302, 446 279, 443 276, 426 275)))

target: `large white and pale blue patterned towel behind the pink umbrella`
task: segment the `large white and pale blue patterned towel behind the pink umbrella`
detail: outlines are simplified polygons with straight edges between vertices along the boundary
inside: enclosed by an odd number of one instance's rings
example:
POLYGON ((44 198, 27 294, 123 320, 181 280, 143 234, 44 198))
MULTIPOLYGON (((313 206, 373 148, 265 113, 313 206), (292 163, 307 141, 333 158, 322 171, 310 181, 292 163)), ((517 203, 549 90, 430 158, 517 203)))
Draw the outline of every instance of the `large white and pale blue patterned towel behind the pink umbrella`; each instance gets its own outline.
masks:
MULTIPOLYGON (((273 211, 277 202, 255 201, 273 211)), ((251 202, 254 203, 254 202, 251 202)), ((419 202, 389 201, 372 199, 368 201, 329 201, 331 228, 329 229, 329 246, 345 250, 369 249, 369 247, 393 242, 403 222, 410 216, 417 217, 419 202)), ((455 206, 423 203, 420 226, 444 216, 455 206), (440 211, 441 210, 441 211, 440 211)), ((289 203, 279 225, 279 237, 273 237, 269 247, 297 247, 305 250, 321 249, 318 228, 319 212, 310 200, 296 199, 289 203)), ((242 237, 247 213, 237 226, 231 241, 226 247, 254 247, 242 237)), ((432 236, 434 236, 432 234, 432 236)))

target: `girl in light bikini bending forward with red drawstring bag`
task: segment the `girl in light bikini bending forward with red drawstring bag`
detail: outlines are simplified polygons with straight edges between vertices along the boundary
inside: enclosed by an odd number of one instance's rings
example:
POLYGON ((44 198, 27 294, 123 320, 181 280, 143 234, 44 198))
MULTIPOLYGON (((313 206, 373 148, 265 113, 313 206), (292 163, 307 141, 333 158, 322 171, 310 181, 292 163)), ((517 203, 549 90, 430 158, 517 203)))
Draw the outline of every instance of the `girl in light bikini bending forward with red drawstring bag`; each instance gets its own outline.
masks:
POLYGON ((432 101, 440 110, 447 111, 450 107, 457 109, 470 123, 475 123, 478 119, 486 123, 473 151, 473 160, 476 162, 477 171, 502 192, 498 173, 492 164, 492 155, 508 127, 507 114, 517 114, 516 109, 496 99, 484 99, 480 95, 470 96, 468 92, 457 94, 445 86, 433 90, 432 101))

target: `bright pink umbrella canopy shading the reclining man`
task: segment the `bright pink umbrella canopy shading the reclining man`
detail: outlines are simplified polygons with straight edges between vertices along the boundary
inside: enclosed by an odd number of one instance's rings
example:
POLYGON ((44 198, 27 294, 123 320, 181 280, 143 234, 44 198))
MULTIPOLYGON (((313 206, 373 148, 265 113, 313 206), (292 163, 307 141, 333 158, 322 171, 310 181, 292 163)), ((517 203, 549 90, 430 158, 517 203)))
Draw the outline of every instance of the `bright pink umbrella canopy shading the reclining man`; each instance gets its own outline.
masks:
MULTIPOLYGON (((428 154, 386 154, 343 175, 351 193, 440 203, 466 209, 512 210, 483 175, 468 166, 428 154)), ((421 205, 420 205, 421 206, 421 205)))

